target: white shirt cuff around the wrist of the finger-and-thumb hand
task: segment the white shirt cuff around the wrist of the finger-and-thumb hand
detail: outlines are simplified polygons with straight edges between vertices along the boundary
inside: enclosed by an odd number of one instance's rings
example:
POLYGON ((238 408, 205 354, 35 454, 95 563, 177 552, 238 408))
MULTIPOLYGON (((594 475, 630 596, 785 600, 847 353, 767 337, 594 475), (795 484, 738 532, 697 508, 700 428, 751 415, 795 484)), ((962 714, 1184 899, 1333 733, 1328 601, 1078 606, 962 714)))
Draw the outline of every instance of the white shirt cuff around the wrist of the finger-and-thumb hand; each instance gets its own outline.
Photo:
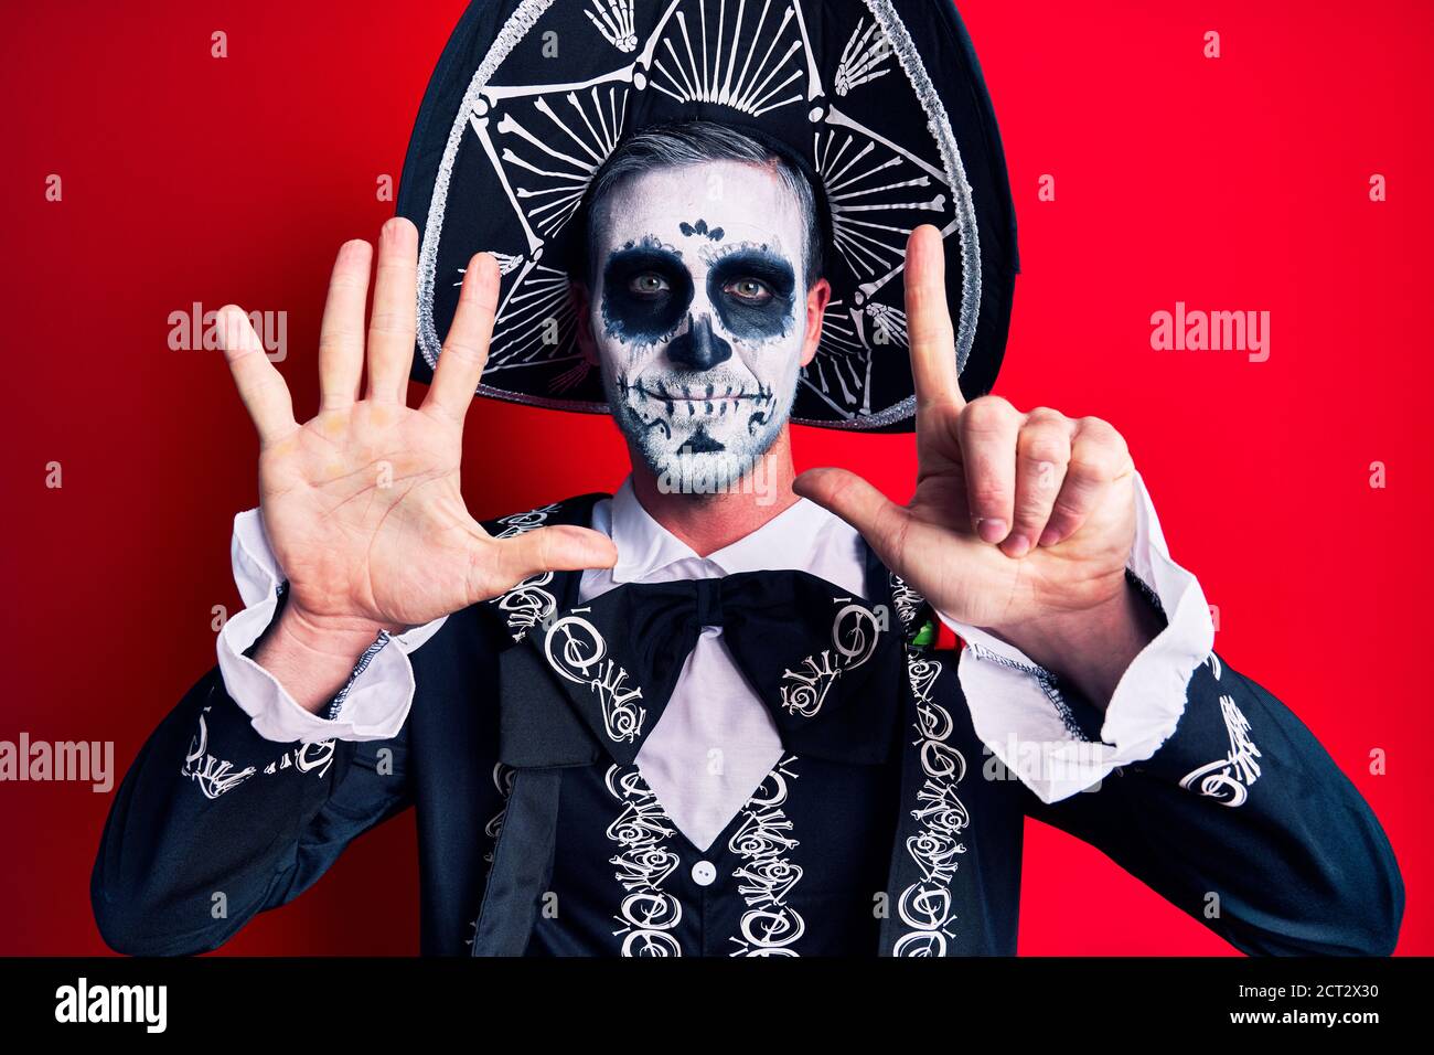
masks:
POLYGON ((1150 758, 1174 733, 1186 689, 1215 644, 1195 576, 1170 558, 1136 472, 1136 541, 1129 573, 1166 614, 1166 627, 1131 660, 1106 708, 1100 741, 1080 729, 1058 679, 989 633, 936 616, 967 647, 956 667, 977 736, 1043 802, 1097 788, 1113 769, 1150 758))

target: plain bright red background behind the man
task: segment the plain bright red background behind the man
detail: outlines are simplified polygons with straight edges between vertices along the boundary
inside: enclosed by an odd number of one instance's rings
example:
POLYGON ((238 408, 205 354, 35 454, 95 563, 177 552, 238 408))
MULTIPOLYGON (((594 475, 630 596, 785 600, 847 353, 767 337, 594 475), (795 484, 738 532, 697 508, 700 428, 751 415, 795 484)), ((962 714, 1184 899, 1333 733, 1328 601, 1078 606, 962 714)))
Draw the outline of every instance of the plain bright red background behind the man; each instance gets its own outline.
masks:
MULTIPOLYGON (((168 316, 290 313, 281 369, 314 408, 333 254, 391 214, 460 0, 14 4, 0 109, 4 245, 0 739, 143 738, 239 606, 231 517, 255 439, 217 352, 168 316), (222 29, 229 57, 209 56, 222 29), (49 174, 63 201, 44 200, 49 174), (46 464, 63 488, 44 487, 46 464)), ((1005 142, 1024 271, 998 392, 1127 436, 1216 647, 1283 699, 1368 797, 1408 888, 1401 953, 1434 953, 1428 834, 1434 9, 964 0, 1005 142), (1217 30, 1223 57, 1202 57, 1217 30), (1368 197, 1371 174, 1388 201, 1368 197), (1057 200, 1037 198, 1043 174, 1057 200), (1268 310, 1271 357, 1153 352, 1150 314, 1268 310), (1388 466, 1371 489, 1369 464, 1388 466), (1368 772, 1371 749, 1387 775, 1368 772)), ((911 439, 796 431, 905 500, 911 439)), ((621 481, 605 418, 483 400, 476 515, 621 481), (576 456, 575 456, 576 454, 576 456)), ((95 953, 110 795, 0 784, 0 953, 95 953)), ((1022 953, 1232 952, 1098 851, 1031 824, 1022 953)), ((412 814, 361 837, 232 953, 414 953, 412 814)))

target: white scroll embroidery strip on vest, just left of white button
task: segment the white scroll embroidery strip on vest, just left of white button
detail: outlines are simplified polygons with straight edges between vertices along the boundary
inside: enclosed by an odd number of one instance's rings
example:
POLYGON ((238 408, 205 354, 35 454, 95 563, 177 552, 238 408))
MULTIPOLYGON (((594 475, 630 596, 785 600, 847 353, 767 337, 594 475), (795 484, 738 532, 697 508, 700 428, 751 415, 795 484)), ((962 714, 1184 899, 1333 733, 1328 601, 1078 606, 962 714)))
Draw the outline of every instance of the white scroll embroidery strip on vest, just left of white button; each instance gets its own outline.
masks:
POLYGON ((612 933, 622 937, 624 956, 681 956, 673 930, 683 919, 683 904, 663 890, 677 870, 677 854, 664 845, 675 827, 635 768, 608 766, 607 785, 622 802, 607 831, 621 847, 608 863, 617 866, 614 877, 625 891, 614 916, 622 926, 612 933))

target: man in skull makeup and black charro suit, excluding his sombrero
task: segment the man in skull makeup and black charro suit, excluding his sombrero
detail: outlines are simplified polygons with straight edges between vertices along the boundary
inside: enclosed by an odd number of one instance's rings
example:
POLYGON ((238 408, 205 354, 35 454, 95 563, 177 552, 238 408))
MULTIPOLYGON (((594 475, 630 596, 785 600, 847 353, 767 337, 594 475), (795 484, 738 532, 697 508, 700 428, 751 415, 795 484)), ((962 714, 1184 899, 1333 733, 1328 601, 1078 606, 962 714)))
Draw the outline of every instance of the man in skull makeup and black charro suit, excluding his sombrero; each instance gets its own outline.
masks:
POLYGON ((417 409, 406 220, 379 243, 367 342, 370 250, 340 251, 303 426, 225 310, 261 436, 261 507, 235 525, 248 607, 116 797, 93 883, 112 946, 215 947, 414 805, 433 953, 1010 953, 1024 815, 1245 950, 1392 947, 1384 833, 1209 650, 1119 433, 962 396, 938 228, 903 261, 912 501, 794 478, 830 194, 756 129, 654 122, 615 146, 571 280, 632 474, 488 524, 457 468, 492 254, 417 409), (926 606, 959 656, 931 647, 926 606))

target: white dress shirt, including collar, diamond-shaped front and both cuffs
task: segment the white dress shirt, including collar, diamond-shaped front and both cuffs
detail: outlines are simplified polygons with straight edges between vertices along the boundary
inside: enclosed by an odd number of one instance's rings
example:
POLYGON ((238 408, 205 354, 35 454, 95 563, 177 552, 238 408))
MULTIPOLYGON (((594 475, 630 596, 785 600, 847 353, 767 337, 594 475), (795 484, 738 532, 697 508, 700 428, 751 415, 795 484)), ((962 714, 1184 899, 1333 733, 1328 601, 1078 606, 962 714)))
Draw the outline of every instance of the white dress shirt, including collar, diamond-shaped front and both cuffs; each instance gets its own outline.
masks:
MULTIPOLYGON (((1136 656, 1106 709, 1101 741, 1077 728, 1053 677, 1018 649, 942 613, 967 642, 958 676, 977 735, 1043 801, 1097 787, 1113 769, 1150 758, 1184 712, 1186 685, 1209 656, 1213 626, 1195 576, 1169 554, 1144 482, 1136 475, 1137 531, 1130 570, 1164 609, 1166 627, 1136 656)), ((579 603, 621 583, 711 578, 739 571, 796 568, 853 594, 865 593, 860 535, 806 498, 708 557, 642 508, 628 478, 592 510, 592 528, 618 551, 612 568, 582 573, 579 603)), ((282 570, 264 535, 258 510, 234 518, 234 578, 245 609, 218 637, 219 670, 229 696, 267 739, 389 739, 413 703, 409 653, 443 624, 435 620, 391 637, 353 677, 337 718, 314 715, 244 655, 278 606, 282 570)), ((671 700, 637 755, 637 766, 668 817, 698 848, 708 847, 779 761, 782 741, 767 708, 736 667, 721 627, 704 627, 671 700)))

